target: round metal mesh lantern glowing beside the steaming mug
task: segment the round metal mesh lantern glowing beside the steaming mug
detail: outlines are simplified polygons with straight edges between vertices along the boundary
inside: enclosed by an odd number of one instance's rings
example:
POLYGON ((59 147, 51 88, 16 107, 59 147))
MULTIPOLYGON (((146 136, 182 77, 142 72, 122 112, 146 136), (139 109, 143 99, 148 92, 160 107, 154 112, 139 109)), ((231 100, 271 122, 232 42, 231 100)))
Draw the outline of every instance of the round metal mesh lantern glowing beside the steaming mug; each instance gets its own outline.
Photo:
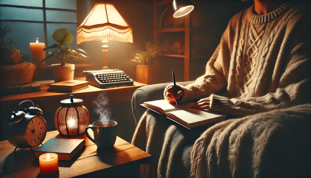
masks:
POLYGON ((60 102, 61 107, 55 112, 55 127, 63 136, 77 136, 85 133, 90 124, 90 114, 82 99, 70 99, 60 102))

